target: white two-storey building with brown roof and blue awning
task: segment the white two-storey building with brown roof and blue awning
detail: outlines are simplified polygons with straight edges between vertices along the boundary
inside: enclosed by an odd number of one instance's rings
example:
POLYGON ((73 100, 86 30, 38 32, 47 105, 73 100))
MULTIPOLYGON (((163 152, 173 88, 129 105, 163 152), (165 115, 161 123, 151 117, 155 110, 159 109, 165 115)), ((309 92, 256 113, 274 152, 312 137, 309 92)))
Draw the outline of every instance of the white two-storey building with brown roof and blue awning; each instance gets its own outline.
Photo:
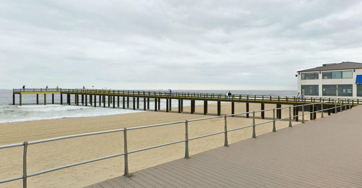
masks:
POLYGON ((324 64, 298 71, 298 92, 307 97, 362 99, 362 63, 324 64))

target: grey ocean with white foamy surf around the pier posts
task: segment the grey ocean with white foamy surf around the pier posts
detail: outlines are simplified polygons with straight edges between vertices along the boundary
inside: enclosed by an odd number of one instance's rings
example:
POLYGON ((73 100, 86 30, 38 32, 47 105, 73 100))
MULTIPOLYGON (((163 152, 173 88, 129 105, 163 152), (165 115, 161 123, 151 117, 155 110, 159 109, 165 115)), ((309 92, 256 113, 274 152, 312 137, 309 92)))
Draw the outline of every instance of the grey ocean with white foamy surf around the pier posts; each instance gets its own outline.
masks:
MULTIPOLYGON (((166 91, 166 90, 154 90, 166 91)), ((217 93, 226 94, 225 90, 173 90, 174 92, 189 92, 189 93, 217 93)), ((295 96, 296 90, 230 90, 232 94, 248 94, 248 95, 275 95, 275 96, 295 96)), ((36 104, 35 94, 22 95, 22 106, 19 106, 19 95, 15 95, 15 104, 12 105, 13 95, 12 90, 0 89, 0 123, 9 123, 16 121, 32 121, 42 119, 60 119, 60 118, 76 118, 90 116, 104 116, 128 113, 142 113, 142 110, 129 109, 113 109, 112 107, 98 107, 99 101, 97 97, 97 107, 85 107, 73 105, 60 105, 60 95, 54 95, 54 104, 51 104, 51 95, 47 95, 47 105, 44 104, 44 95, 39 94, 39 104, 36 104)), ((122 100, 122 97, 119 98, 122 100)), ((89 99, 88 99, 89 100, 89 99)), ((63 95, 63 104, 66 103, 66 95, 63 95)), ((107 98, 106 98, 107 101, 107 98)), ((89 102, 89 101, 88 101, 89 102)), ((71 95, 71 103, 74 103, 74 95, 71 95)), ((215 103, 209 101, 209 103, 215 103)), ((108 102, 106 102, 106 105, 108 102)), ((130 98, 130 108, 133 106, 132 98, 130 98)), ((176 110, 178 107, 177 100, 172 100, 172 108, 176 110)), ((184 100, 184 106, 190 106, 189 100, 184 100)), ((195 101, 195 104, 203 104, 203 101, 195 101)), ((88 104, 90 105, 90 104, 88 104)), ((94 104, 93 104, 94 105, 94 104)), ((143 98, 140 98, 139 107, 143 109, 143 98)), ((161 109, 166 108, 166 100, 161 99, 161 109)), ((112 105, 111 105, 112 106, 112 105)), ((117 104, 116 104, 117 106, 117 104)), ((120 101, 122 106, 122 101, 120 101)), ((150 98, 150 110, 155 109, 154 99, 150 98)))

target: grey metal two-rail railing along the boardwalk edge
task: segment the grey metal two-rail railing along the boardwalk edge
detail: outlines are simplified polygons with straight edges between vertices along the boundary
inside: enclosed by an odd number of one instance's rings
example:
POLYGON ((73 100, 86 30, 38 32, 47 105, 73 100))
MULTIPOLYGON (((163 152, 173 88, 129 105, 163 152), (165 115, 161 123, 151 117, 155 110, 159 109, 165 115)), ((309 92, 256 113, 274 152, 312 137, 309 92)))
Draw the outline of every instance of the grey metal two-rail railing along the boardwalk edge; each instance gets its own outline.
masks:
MULTIPOLYGON (((177 143, 181 143, 181 142, 185 142, 185 157, 186 159, 189 159, 189 141, 190 140, 195 140, 198 138, 203 138, 203 137, 208 137, 208 136, 213 136, 216 134, 222 134, 224 133, 224 146, 229 146, 228 145, 228 135, 227 133, 230 131, 236 131, 239 129, 244 129, 244 128, 248 128, 248 127, 253 127, 253 134, 252 137, 256 138, 256 133, 255 133, 255 128, 257 125, 262 125, 262 124, 266 124, 266 123, 273 123, 273 132, 276 132, 276 128, 275 128, 275 122, 276 121, 281 121, 281 120, 286 120, 289 119, 289 127, 292 127, 292 118, 294 117, 298 117, 298 116, 302 116, 302 123, 305 123, 305 118, 304 116, 307 114, 314 114, 316 112, 321 112, 321 118, 324 118, 324 111, 328 110, 328 115, 330 115, 330 110, 334 109, 335 113, 337 113, 337 108, 340 108, 340 111, 342 112, 343 108, 345 107, 345 110, 351 109, 352 108, 352 104, 348 103, 346 100, 345 101, 333 101, 334 103, 334 107, 331 108, 323 108, 323 102, 320 103, 312 103, 312 104, 302 104, 302 105, 298 105, 298 106, 288 106, 288 107, 281 107, 281 108, 272 108, 272 109, 267 109, 267 110, 259 110, 259 111, 252 111, 252 112, 244 112, 244 113, 239 113, 239 114, 230 114, 230 115, 222 115, 222 116, 214 116, 214 117, 210 117, 210 118, 201 118, 201 119, 193 119, 193 120, 185 120, 185 121, 176 121, 176 122, 171 122, 171 123, 162 123, 162 124, 156 124, 156 125, 147 125, 147 126, 141 126, 141 127, 131 127, 131 128, 123 128, 123 129, 115 129, 115 130, 110 130, 110 131, 100 131, 100 132, 92 132, 92 133, 84 133, 84 134, 75 134, 75 135, 70 135, 70 136, 62 136, 62 137, 56 137, 56 138, 49 138, 49 139, 45 139, 45 140, 37 140, 37 141, 25 141, 22 143, 18 143, 18 144, 9 144, 9 145, 2 145, 0 146, 0 149, 5 149, 5 148, 13 148, 13 147, 18 147, 18 146, 24 146, 24 151, 23 151, 23 174, 22 176, 17 176, 14 178, 10 178, 10 179, 5 179, 5 180, 0 180, 0 184, 1 183, 5 183, 5 182, 9 182, 9 181, 15 181, 15 180, 23 180, 23 188, 27 187, 27 178, 30 178, 32 176, 37 176, 37 175, 41 175, 41 174, 45 174, 47 172, 52 172, 52 171, 56 171, 56 170, 60 170, 63 168, 68 168, 68 167, 73 167, 73 166, 77 166, 77 165, 82 165, 82 164, 86 164, 86 163, 90 163, 90 162, 95 162, 95 161, 100 161, 103 159, 109 159, 109 158, 113 158, 113 157, 119 157, 124 155, 124 176, 128 177, 130 176, 129 174, 129 170, 128 170, 128 154, 131 153, 136 153, 139 151, 144 151, 144 150, 149 150, 149 149, 153 149, 153 148, 159 148, 162 146, 167 146, 167 145, 172 145, 172 144, 177 144, 177 143), (338 103, 338 104, 337 104, 338 103), (344 104, 343 104, 344 103, 344 104), (321 110, 318 111, 314 111, 314 105, 315 104, 320 104, 321 105, 321 110), (313 107, 313 111, 312 112, 304 112, 304 107, 306 106, 312 106, 313 107), (291 115, 291 108, 295 107, 298 109, 298 107, 302 107, 302 114, 300 115, 291 115), (281 110, 281 109, 285 109, 285 108, 289 108, 289 116, 286 118, 281 118, 281 119, 275 119, 275 110, 281 110), (262 122, 262 123, 255 123, 255 113, 258 112, 266 112, 266 111, 273 111, 273 120, 271 121, 266 121, 266 122, 262 122), (244 127, 239 127, 239 128, 234 128, 234 129, 228 129, 227 128, 227 117, 233 117, 233 116, 237 116, 237 115, 245 115, 245 114, 252 114, 253 115, 253 123, 251 125, 247 125, 244 127), (216 132, 216 133, 211 133, 211 134, 206 134, 203 136, 197 136, 197 137, 191 137, 189 138, 189 134, 188 134, 188 123, 192 122, 192 121, 202 121, 202 120, 209 120, 209 119, 215 119, 215 118, 224 118, 224 131, 220 131, 220 132, 216 132), (144 128, 150 128, 150 127, 159 127, 159 126, 165 126, 165 125, 174 125, 174 124, 181 124, 184 123, 185 124, 185 139, 183 140, 178 140, 178 141, 174 141, 174 142, 169 142, 166 144, 160 144, 160 145, 156 145, 156 146, 151 146, 151 147, 147 147, 147 148, 143 148, 143 149, 137 149, 137 150, 131 150, 128 151, 127 149, 127 131, 131 131, 131 130, 136 130, 136 129, 144 129, 144 128), (77 162, 77 163, 73 163, 73 164, 69 164, 69 165, 64 165, 64 166, 59 166, 59 167, 55 167, 55 168, 50 168, 47 170, 43 170, 43 171, 38 171, 38 172, 33 172, 31 174, 28 174, 27 171, 27 162, 26 162, 26 156, 27 156, 27 148, 28 145, 31 144, 39 144, 39 143, 44 143, 44 142, 51 142, 51 141, 57 141, 57 140, 63 140, 63 139, 68 139, 68 138, 75 138, 75 137, 83 137, 83 136, 90 136, 90 135, 96 135, 96 134, 105 134, 105 133, 113 133, 113 132, 123 132, 123 141, 124 141, 124 152, 123 153, 118 153, 118 154, 114 154, 114 155, 109 155, 109 156, 105 156, 105 157, 100 157, 100 158, 96 158, 96 159, 90 159, 87 161, 81 161, 81 162, 77 162)), ((330 105, 329 105, 330 106, 330 105)), ((315 119, 315 117, 312 118, 313 120, 315 119)))

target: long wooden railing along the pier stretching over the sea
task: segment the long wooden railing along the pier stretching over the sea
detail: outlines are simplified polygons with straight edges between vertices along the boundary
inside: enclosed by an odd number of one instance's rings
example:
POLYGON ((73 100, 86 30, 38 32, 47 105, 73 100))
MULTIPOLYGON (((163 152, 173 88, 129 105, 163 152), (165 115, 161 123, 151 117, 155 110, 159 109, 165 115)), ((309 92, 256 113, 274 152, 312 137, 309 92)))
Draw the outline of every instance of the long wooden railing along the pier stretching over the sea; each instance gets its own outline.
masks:
MULTIPOLYGON (((243 94, 232 94, 227 96, 226 94, 219 93, 186 93, 186 92, 171 92, 167 91, 140 91, 140 90, 104 90, 104 89, 62 89, 59 88, 34 88, 34 89, 13 89, 13 93, 21 92, 55 92, 60 91, 62 93, 71 93, 71 94, 90 94, 90 95, 128 95, 128 96, 140 96, 140 97, 178 97, 182 98, 193 98, 198 100, 230 100, 230 101, 261 101, 261 102, 295 102, 295 103, 305 103, 305 102, 324 102, 331 103, 333 101, 344 100, 344 98, 325 98, 325 97, 304 97, 303 99, 298 99, 297 97, 291 96, 276 96, 276 95, 243 95, 243 94)), ((350 103, 362 104, 361 99, 347 99, 350 103)))

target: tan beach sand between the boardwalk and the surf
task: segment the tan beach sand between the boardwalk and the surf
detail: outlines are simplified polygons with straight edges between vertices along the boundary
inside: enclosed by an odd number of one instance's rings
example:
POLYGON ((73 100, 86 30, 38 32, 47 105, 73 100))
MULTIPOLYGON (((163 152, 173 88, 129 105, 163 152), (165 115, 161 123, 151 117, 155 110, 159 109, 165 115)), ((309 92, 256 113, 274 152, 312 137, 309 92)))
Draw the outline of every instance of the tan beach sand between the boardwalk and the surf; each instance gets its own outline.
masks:
MULTIPOLYGON (((283 105, 284 106, 284 105, 283 105)), ((275 104, 265 104, 265 109, 275 108, 275 104)), ((203 105, 195 107, 195 114, 190 114, 190 106, 184 107, 184 112, 178 114, 177 108, 171 113, 146 111, 140 113, 97 116, 87 118, 66 118, 54 120, 27 121, 0 124, 0 145, 14 144, 24 141, 41 140, 45 138, 67 136, 71 134, 88 133, 167 123, 172 121, 191 120, 211 116, 203 115, 203 105)), ((260 104, 250 103, 250 111, 260 110, 260 104)), ((209 104, 208 112, 216 114, 216 104, 209 104)), ((235 113, 245 112, 245 103, 235 103, 235 113)), ((222 114, 231 114, 231 103, 221 104, 222 114)), ((299 113, 301 114, 301 113, 299 113)), ((256 123, 270 121, 272 111, 265 112, 266 119, 256 113, 256 123)), ((289 116, 289 110, 283 109, 282 118, 289 116)), ((317 115, 320 117, 320 115, 317 115)), ((299 117, 301 121, 302 117, 299 117)), ((309 115, 306 115, 306 120, 309 115)), ((299 124, 292 122, 292 124, 299 124)), ((250 118, 227 118, 228 129, 243 127, 252 124, 250 118)), ((288 127, 289 121, 277 121, 276 127, 288 127)), ((256 135, 271 132, 272 123, 256 126, 256 135)), ((189 138, 220 132, 224 130, 224 118, 202 120, 189 123, 189 138)), ((277 133, 275 133, 277 134, 277 133)), ((252 127, 228 133, 229 144, 252 137, 252 127)), ((166 125, 154 128, 136 129, 127 131, 128 150, 146 148, 149 146, 183 140, 185 138, 185 124, 166 125)), ((224 134, 200 138, 189 141, 191 155, 224 145, 224 134)), ((22 175, 23 147, 0 150, 0 179, 13 178, 22 175)), ((86 137, 70 138, 66 140, 46 142, 28 146, 27 167, 28 174, 67 165, 75 162, 123 153, 123 132, 99 134, 86 137)), ((161 163, 184 157, 185 144, 173 144, 156 149, 129 154, 130 173, 161 163)), ((124 173, 124 157, 115 157, 102 161, 92 162, 75 167, 65 168, 46 174, 28 178, 28 188, 63 188, 84 187, 98 183, 124 173)), ((1 188, 18 188, 22 180, 0 184, 1 188)))

